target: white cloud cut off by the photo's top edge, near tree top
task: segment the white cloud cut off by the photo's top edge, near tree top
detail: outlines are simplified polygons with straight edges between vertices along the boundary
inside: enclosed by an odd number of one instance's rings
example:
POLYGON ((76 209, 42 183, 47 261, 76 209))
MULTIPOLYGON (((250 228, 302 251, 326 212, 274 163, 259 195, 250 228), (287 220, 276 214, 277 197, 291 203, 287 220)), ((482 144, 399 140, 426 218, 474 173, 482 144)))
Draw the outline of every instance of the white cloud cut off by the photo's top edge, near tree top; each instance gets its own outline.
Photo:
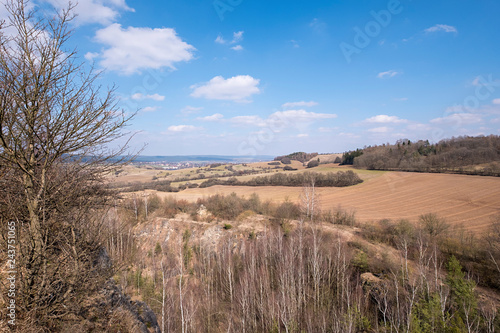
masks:
MULTIPOLYGON (((68 1, 46 0, 57 9, 67 9, 68 1)), ((76 3, 76 2, 75 2, 76 3)), ((133 12, 134 9, 127 6, 125 0, 79 0, 73 10, 76 14, 76 24, 99 23, 108 25, 115 22, 120 11, 133 12)))

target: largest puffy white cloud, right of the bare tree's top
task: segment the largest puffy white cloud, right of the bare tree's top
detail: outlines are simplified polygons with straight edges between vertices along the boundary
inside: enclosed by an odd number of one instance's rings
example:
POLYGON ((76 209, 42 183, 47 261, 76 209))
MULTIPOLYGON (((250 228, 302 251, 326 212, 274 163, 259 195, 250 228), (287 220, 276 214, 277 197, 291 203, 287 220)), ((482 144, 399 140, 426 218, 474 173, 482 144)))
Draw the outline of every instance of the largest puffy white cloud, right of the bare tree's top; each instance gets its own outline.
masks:
POLYGON ((123 29, 115 23, 98 30, 95 40, 107 47, 101 54, 101 66, 127 75, 147 68, 175 69, 175 63, 193 59, 196 50, 171 28, 123 29))

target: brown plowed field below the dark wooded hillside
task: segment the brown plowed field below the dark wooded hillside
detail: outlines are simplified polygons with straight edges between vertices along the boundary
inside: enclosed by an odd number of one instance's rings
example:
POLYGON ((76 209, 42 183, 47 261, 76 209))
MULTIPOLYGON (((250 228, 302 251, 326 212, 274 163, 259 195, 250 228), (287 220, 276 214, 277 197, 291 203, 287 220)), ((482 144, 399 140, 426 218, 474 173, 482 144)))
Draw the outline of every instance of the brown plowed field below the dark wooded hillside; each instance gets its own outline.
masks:
MULTIPOLYGON (((288 198, 299 202, 301 189, 214 186, 189 189, 174 196, 193 201, 203 196, 231 192, 244 196, 257 193, 263 200, 283 201, 288 198)), ((462 224, 469 230, 481 232, 495 216, 500 216, 500 178, 495 177, 385 172, 366 177, 360 185, 318 188, 318 193, 321 209, 341 206, 354 210, 360 222, 386 218, 417 221, 422 214, 436 213, 453 225, 462 224)))

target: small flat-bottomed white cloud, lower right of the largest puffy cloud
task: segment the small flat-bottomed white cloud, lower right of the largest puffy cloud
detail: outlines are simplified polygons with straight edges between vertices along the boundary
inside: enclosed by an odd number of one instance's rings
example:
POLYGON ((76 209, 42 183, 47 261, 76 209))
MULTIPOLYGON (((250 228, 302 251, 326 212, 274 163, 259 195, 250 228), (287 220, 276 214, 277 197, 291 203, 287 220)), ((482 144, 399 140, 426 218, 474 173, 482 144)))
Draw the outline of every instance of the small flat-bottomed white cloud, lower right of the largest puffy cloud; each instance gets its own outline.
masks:
POLYGON ((210 81, 201 85, 192 85, 191 93, 195 98, 206 98, 215 100, 226 100, 235 102, 249 102, 248 98, 258 94, 260 80, 254 79, 250 75, 238 75, 229 79, 216 76, 210 81))

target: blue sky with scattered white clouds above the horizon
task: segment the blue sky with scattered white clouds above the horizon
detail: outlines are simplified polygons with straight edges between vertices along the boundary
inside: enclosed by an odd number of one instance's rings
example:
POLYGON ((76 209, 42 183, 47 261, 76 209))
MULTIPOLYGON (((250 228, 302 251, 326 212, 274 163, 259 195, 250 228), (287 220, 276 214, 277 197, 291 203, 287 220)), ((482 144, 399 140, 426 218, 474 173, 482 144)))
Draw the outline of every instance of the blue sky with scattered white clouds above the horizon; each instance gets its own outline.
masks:
POLYGON ((75 11, 71 44, 105 69, 125 112, 139 110, 128 129, 145 155, 500 134, 496 0, 80 0, 75 11))

